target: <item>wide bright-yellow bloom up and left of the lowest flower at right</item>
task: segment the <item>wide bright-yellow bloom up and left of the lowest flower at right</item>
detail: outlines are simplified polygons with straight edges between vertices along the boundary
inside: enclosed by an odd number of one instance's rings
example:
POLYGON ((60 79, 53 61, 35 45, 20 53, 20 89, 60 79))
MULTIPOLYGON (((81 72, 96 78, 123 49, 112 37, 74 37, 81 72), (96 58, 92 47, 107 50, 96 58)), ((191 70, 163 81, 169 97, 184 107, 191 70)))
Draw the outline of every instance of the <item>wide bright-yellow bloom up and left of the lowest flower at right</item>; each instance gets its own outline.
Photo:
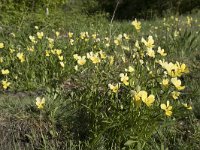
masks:
POLYGON ((139 93, 139 96, 141 97, 142 101, 148 106, 150 107, 153 102, 155 101, 155 96, 154 95, 149 95, 147 94, 146 91, 140 91, 139 93))

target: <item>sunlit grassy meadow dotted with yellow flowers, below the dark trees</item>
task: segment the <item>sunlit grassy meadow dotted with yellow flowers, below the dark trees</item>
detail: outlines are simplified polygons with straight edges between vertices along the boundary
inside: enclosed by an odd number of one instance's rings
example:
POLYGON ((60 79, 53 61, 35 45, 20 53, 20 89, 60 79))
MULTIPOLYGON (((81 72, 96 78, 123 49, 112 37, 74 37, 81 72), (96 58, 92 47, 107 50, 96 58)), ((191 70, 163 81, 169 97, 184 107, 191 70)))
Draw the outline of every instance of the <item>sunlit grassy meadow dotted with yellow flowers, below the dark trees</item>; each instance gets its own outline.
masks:
POLYGON ((0 15, 0 149, 200 149, 200 12, 0 15))

